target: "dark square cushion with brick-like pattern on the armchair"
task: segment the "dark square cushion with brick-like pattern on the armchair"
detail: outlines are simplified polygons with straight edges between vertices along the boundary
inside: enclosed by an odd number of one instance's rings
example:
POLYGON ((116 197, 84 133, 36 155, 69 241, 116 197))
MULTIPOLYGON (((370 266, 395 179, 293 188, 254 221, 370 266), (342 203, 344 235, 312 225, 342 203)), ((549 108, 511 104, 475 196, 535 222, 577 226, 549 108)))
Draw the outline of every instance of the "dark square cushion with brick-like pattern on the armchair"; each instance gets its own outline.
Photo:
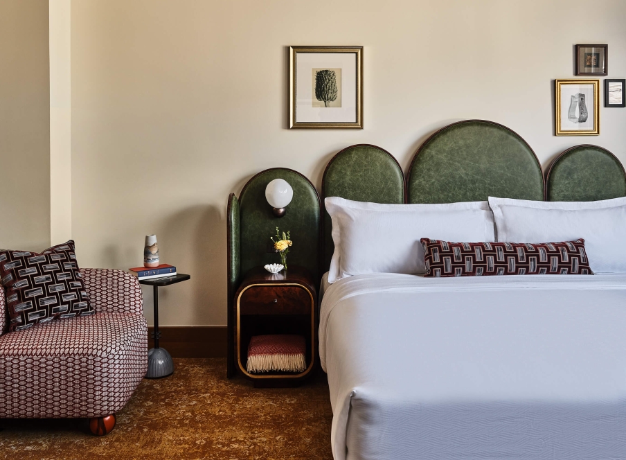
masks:
POLYGON ((42 254, 0 249, 0 278, 6 291, 9 330, 24 330, 55 318, 93 315, 74 242, 42 254))

